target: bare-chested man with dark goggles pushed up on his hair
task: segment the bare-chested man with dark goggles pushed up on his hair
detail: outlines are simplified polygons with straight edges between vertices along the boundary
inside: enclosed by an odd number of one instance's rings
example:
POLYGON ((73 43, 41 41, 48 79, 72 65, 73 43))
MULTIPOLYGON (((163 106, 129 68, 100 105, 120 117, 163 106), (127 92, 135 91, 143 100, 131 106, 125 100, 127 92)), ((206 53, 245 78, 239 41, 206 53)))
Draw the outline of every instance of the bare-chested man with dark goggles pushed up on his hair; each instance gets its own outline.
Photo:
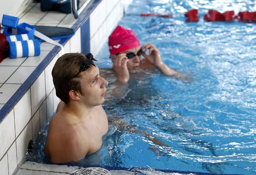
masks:
POLYGON ((56 95, 62 100, 49 123, 44 153, 53 163, 76 162, 100 149, 108 130, 102 103, 108 82, 91 53, 62 55, 52 69, 56 95))

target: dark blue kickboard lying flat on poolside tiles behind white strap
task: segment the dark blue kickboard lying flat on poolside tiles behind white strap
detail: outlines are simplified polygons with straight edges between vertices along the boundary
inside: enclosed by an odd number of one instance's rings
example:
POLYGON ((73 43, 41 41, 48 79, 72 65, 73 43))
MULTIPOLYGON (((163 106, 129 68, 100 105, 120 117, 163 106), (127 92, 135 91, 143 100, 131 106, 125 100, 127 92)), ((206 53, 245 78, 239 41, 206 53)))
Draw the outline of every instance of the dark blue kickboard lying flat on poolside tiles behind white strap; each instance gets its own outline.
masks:
MULTIPOLYGON (((63 28, 63 27, 54 27, 54 26, 35 26, 36 31, 48 36, 49 38, 56 40, 56 39, 63 39, 72 37, 75 34, 74 29, 71 28, 63 28)), ((39 41, 43 41, 42 39, 35 36, 35 39, 39 41)))

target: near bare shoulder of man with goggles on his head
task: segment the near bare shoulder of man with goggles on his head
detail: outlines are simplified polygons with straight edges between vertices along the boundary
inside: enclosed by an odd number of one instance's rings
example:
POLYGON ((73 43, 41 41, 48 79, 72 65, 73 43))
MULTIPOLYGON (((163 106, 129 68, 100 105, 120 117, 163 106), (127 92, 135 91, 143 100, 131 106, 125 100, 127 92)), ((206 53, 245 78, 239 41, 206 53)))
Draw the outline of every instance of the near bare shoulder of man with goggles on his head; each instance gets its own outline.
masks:
POLYGON ((70 116, 65 115, 63 116, 60 110, 49 123, 44 152, 54 163, 79 161, 90 148, 86 130, 75 120, 70 120, 70 116))

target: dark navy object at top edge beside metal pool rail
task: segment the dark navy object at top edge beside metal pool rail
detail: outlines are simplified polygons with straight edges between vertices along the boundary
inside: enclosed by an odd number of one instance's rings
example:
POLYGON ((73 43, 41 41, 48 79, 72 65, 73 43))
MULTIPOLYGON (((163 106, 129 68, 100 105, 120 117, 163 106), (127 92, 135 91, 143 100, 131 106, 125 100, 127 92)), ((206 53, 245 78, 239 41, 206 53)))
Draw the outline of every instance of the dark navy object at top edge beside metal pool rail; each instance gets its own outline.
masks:
MULTIPOLYGON (((66 14, 71 13, 71 2, 70 0, 41 0, 40 1, 41 11, 60 11, 66 14)), ((79 0, 77 0, 77 8, 79 8, 79 0)))

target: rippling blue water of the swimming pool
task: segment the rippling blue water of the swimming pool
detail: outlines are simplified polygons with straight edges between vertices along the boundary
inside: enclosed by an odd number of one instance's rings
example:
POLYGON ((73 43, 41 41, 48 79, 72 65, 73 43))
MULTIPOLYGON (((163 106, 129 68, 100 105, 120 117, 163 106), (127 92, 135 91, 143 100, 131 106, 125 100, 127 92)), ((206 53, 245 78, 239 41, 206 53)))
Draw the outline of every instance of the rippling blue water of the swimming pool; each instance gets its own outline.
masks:
MULTIPOLYGON (((256 5, 252 0, 134 0, 129 6, 119 25, 133 29, 141 44, 154 43, 167 65, 191 73, 194 81, 151 71, 133 75, 126 95, 106 98, 104 107, 108 116, 124 120, 160 144, 113 122, 102 148, 80 164, 256 173, 256 24, 205 22, 208 9, 238 14, 256 11, 256 5), (186 23, 184 13, 192 8, 198 9, 200 20, 186 23)), ((107 43, 95 57, 101 59, 100 69, 111 68, 107 43)), ((113 77, 104 78, 113 84, 113 77)), ((39 147, 46 132, 39 136, 39 147)), ((37 153, 44 162, 40 149, 37 153)))

